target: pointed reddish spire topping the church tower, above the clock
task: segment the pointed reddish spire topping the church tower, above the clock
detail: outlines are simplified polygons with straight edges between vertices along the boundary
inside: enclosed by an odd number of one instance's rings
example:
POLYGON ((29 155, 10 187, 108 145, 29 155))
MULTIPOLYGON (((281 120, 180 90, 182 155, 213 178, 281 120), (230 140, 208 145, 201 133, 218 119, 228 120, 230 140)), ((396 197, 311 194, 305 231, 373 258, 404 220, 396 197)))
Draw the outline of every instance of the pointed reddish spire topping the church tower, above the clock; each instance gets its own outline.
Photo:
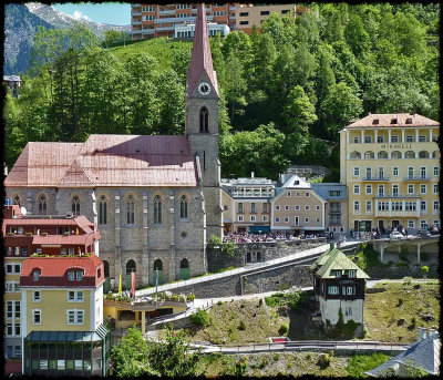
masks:
POLYGON ((213 58, 210 55, 206 9, 205 3, 199 2, 197 3, 197 20, 195 23, 193 53, 190 55, 190 65, 186 80, 186 96, 193 94, 204 73, 208 76, 210 84, 218 96, 217 76, 213 68, 213 58))

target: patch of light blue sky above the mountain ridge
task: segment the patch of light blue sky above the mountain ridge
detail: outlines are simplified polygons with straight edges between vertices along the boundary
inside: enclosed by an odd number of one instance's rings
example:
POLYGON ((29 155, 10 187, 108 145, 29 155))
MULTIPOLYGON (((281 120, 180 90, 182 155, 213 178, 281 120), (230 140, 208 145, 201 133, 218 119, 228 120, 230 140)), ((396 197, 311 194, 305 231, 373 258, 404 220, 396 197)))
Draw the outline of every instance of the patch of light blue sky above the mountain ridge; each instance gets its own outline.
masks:
POLYGON ((76 19, 86 19, 113 25, 131 24, 131 3, 128 2, 75 2, 52 3, 60 12, 71 14, 76 19))

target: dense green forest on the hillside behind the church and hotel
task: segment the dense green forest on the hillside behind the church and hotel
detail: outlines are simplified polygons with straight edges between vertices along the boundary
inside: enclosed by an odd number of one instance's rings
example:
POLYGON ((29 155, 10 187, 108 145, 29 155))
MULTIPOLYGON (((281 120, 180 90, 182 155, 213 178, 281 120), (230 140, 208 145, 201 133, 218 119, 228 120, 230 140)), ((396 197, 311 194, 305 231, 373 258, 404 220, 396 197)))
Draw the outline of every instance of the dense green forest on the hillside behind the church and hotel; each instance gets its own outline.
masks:
MULTIPOLYGON (((296 20, 274 13, 251 35, 212 39, 224 177, 275 179, 291 164, 319 164, 338 181, 338 132, 351 120, 439 120, 437 3, 310 7, 296 20)), ((19 97, 8 95, 3 107, 8 167, 29 141, 184 134, 190 50, 192 41, 119 45, 82 24, 40 27, 19 97)))

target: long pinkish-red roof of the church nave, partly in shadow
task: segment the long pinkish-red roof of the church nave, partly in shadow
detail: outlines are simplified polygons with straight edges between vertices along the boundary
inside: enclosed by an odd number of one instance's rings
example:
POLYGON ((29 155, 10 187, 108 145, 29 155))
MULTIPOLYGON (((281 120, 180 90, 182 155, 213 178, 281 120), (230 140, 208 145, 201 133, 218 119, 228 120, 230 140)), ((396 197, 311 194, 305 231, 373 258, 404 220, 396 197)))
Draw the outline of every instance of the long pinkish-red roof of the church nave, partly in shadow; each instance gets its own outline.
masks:
POLYGON ((197 186, 197 171, 186 136, 93 134, 82 144, 28 143, 4 185, 197 186))

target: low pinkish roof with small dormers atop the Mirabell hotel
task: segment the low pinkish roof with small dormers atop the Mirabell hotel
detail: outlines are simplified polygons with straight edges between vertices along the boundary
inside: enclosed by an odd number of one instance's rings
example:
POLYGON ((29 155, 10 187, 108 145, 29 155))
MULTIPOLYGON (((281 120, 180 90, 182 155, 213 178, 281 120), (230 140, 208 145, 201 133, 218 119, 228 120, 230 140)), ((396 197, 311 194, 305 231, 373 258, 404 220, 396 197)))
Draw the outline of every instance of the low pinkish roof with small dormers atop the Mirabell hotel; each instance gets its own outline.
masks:
POLYGON ((347 125, 347 129, 352 127, 415 127, 415 126, 440 126, 439 122, 424 117, 416 113, 383 113, 370 114, 354 123, 347 125), (391 124, 396 120, 396 123, 391 124), (406 120, 409 122, 406 123, 406 120), (375 124, 374 124, 375 121, 375 124), (378 121, 378 123, 377 123, 378 121))

